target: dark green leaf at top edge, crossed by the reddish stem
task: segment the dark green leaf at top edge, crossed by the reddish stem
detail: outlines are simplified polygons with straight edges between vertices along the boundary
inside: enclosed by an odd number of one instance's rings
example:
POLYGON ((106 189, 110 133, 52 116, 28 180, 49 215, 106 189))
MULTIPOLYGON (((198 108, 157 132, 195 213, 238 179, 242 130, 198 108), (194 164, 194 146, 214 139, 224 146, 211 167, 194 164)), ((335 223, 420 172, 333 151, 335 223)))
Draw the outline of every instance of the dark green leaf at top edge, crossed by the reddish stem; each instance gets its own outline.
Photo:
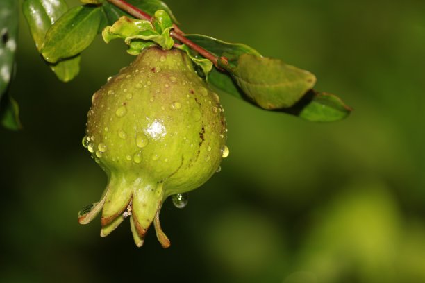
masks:
MULTIPOLYGON (((158 10, 165 10, 169 17, 172 19, 174 24, 178 24, 176 17, 174 17, 172 10, 165 4, 163 1, 159 0, 127 0, 127 3, 139 8, 140 10, 146 12, 148 15, 153 16, 158 10)), ((108 17, 108 24, 113 25, 117 20, 122 17, 133 17, 127 12, 117 8, 113 4, 109 2, 105 2, 102 4, 102 8, 105 11, 106 16, 108 17)))

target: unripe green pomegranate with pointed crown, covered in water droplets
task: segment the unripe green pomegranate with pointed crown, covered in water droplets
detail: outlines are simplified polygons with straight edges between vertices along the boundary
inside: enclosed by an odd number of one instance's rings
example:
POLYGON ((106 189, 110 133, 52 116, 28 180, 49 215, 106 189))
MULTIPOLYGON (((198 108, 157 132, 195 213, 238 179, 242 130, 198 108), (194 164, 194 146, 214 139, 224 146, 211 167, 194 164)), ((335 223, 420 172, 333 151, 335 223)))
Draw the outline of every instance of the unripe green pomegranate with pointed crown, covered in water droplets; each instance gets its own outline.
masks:
POLYGON ((226 122, 219 98, 185 53, 150 48, 92 97, 83 144, 108 175, 101 201, 78 216, 89 223, 102 209, 101 236, 130 216, 135 243, 171 195, 196 189, 219 168, 226 122))

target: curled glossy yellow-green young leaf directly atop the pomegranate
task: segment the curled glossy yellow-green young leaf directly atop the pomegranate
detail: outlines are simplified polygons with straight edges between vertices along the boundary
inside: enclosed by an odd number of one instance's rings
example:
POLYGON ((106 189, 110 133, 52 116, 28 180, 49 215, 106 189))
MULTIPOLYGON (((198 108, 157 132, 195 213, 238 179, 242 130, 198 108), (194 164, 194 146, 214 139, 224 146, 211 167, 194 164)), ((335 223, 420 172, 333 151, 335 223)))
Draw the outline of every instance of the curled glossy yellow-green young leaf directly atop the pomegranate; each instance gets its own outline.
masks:
POLYGON ((169 35, 173 28, 167 13, 158 10, 149 22, 144 19, 120 17, 112 26, 103 29, 102 37, 106 43, 117 38, 124 39, 128 45, 128 53, 138 55, 144 48, 152 46, 152 42, 163 49, 172 49, 174 40, 169 35))

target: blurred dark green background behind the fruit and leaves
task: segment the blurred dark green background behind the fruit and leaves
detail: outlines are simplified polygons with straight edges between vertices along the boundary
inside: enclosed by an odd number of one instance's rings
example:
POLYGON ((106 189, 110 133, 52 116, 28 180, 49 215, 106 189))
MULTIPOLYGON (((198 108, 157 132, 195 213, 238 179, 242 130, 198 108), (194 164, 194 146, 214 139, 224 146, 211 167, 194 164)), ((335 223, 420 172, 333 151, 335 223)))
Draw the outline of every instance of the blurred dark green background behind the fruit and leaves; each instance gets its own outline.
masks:
POLYGON ((172 247, 151 229, 136 248, 128 221, 101 239, 99 218, 76 221, 106 185, 81 138, 92 93, 133 58, 99 37, 60 83, 21 21, 10 90, 24 130, 0 129, 0 282, 425 282, 425 1, 167 3, 186 33, 313 71, 355 111, 308 123, 222 96, 231 155, 185 209, 165 203, 172 247))

